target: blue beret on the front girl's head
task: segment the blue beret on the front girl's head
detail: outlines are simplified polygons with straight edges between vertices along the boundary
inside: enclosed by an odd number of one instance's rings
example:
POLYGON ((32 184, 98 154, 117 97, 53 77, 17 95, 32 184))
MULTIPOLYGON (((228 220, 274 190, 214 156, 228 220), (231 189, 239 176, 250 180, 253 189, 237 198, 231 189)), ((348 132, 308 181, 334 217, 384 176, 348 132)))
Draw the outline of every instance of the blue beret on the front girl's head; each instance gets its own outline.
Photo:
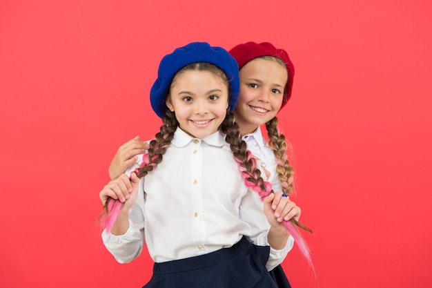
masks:
POLYGON ((230 81, 229 106, 233 111, 239 97, 239 66, 237 61, 221 47, 212 47, 206 42, 194 42, 174 50, 162 58, 157 70, 157 79, 150 90, 150 103, 157 116, 163 118, 165 99, 171 81, 181 68, 188 64, 208 62, 221 68, 230 81))

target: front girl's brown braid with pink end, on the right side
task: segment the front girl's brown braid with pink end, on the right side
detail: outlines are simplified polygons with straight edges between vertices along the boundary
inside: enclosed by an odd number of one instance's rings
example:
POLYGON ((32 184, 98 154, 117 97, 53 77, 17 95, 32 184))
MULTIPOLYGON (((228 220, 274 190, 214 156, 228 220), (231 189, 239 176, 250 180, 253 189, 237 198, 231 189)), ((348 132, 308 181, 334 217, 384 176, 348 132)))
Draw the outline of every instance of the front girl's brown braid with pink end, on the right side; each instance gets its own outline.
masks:
MULTIPOLYGON (((233 151, 234 159, 238 164, 239 171, 242 173, 242 178, 244 183, 253 191, 257 192, 261 199, 273 193, 273 189, 270 182, 266 182, 261 177, 261 172, 257 168, 257 162, 252 157, 251 151, 248 151, 246 142, 242 140, 239 126, 234 122, 233 113, 227 113, 224 122, 222 122, 221 130, 226 134, 226 142, 230 144, 230 149, 233 151)), ((294 218, 289 221, 283 221, 282 224, 288 230, 288 232, 293 236, 295 242, 302 251, 306 260, 308 260, 309 265, 313 268, 313 263, 309 253, 309 249, 306 242, 300 235, 299 231, 295 226, 304 227, 294 218)), ((308 229, 306 227, 306 229, 308 229)), ((309 229, 310 230, 310 229, 309 229)))

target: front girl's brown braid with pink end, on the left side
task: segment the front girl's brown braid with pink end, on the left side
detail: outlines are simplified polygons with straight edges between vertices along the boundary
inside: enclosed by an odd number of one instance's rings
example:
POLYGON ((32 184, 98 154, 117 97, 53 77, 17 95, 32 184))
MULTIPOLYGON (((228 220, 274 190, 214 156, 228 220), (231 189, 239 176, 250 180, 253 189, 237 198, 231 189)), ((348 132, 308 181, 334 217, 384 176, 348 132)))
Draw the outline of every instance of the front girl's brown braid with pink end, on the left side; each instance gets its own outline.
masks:
MULTIPOLYGON (((155 140, 150 141, 148 153, 143 155, 143 163, 134 172, 139 178, 145 177, 148 172, 153 171, 155 166, 162 161, 162 155, 165 154, 166 148, 170 145, 174 137, 174 132, 177 129, 179 122, 175 118, 175 114, 167 109, 159 133, 155 135, 155 140)), ((109 233, 112 225, 115 223, 119 215, 122 202, 112 198, 108 198, 104 204, 104 211, 100 215, 101 227, 109 233)))

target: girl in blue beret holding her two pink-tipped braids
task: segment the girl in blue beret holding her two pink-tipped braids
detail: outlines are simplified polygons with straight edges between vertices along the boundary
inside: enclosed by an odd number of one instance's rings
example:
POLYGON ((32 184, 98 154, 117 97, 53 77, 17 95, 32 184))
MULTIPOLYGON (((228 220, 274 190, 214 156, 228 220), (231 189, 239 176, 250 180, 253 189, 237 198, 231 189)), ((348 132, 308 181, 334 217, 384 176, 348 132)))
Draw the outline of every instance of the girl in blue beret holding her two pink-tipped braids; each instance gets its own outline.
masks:
POLYGON ((286 220, 301 211, 261 177, 231 113, 238 93, 237 62, 222 48, 193 43, 161 60, 150 102, 163 126, 99 193, 117 261, 146 242, 146 288, 277 287, 268 270, 293 247, 286 220))

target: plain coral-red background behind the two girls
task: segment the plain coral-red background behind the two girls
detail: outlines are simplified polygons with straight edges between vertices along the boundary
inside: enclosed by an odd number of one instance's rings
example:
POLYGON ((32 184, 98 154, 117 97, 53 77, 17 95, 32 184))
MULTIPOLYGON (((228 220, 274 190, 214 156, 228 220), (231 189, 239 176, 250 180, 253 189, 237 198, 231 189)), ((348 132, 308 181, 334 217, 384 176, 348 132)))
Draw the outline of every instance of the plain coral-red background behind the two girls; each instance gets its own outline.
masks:
POLYGON ((316 278, 293 287, 431 287, 432 4, 0 1, 0 287, 141 287, 95 222, 120 144, 160 122, 148 91, 190 41, 271 41, 296 68, 279 115, 316 278))

